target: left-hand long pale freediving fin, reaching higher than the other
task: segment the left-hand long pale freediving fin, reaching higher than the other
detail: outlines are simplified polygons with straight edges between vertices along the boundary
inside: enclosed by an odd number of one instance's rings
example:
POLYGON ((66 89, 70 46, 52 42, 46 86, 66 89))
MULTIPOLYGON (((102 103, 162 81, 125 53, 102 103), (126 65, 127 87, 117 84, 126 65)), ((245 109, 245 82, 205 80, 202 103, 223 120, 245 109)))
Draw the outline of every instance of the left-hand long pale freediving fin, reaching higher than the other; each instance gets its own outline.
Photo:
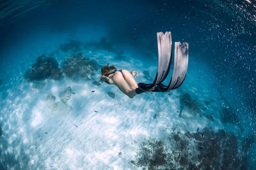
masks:
POLYGON ((157 32, 157 46, 158 46, 158 68, 154 82, 152 84, 138 83, 136 93, 150 92, 156 86, 163 82, 169 73, 172 62, 172 34, 171 32, 157 32))

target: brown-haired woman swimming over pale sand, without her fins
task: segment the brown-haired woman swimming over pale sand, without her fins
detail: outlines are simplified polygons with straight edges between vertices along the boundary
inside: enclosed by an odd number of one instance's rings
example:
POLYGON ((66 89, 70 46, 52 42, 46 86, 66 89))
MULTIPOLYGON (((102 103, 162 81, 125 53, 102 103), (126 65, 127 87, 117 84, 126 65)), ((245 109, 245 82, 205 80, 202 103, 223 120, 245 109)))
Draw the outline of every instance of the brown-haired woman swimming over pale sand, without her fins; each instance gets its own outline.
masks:
POLYGON ((138 71, 127 71, 126 69, 117 70, 115 66, 109 66, 108 64, 102 67, 101 74, 100 81, 115 84, 118 89, 130 98, 136 96, 135 89, 138 88, 138 84, 134 80, 134 76, 138 76, 138 71))

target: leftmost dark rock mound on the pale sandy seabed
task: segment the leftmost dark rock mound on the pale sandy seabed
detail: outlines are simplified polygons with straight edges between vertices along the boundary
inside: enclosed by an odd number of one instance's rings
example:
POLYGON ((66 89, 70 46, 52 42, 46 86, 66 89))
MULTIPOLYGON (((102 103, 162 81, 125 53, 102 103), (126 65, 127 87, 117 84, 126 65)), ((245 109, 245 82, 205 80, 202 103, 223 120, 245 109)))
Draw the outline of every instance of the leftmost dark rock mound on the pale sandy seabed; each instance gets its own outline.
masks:
POLYGON ((62 73, 58 67, 56 59, 42 55, 38 57, 36 63, 33 64, 31 69, 26 71, 24 76, 29 81, 45 80, 46 78, 59 80, 62 77, 62 73))

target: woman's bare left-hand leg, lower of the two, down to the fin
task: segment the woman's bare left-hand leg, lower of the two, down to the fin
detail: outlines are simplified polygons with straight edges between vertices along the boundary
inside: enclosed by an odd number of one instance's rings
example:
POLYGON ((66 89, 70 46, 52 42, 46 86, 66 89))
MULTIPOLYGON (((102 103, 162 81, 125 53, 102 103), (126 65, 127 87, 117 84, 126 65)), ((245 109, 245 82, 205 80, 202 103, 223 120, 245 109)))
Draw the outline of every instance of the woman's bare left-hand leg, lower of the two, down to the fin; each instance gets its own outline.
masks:
POLYGON ((113 81, 115 85, 128 97, 132 98, 136 96, 135 90, 131 90, 127 85, 127 82, 124 80, 123 74, 120 71, 116 71, 113 75, 113 81))

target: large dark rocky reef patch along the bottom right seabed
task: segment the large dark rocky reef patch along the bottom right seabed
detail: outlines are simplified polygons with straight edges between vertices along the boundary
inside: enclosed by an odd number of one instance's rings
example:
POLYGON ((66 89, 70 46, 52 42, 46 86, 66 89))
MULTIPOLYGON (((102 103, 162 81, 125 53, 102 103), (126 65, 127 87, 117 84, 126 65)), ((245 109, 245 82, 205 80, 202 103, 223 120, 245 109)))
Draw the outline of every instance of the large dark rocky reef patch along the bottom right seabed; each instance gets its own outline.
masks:
POLYGON ((173 132, 165 139, 145 140, 131 163, 142 169, 247 169, 239 144, 233 133, 224 130, 173 132))

